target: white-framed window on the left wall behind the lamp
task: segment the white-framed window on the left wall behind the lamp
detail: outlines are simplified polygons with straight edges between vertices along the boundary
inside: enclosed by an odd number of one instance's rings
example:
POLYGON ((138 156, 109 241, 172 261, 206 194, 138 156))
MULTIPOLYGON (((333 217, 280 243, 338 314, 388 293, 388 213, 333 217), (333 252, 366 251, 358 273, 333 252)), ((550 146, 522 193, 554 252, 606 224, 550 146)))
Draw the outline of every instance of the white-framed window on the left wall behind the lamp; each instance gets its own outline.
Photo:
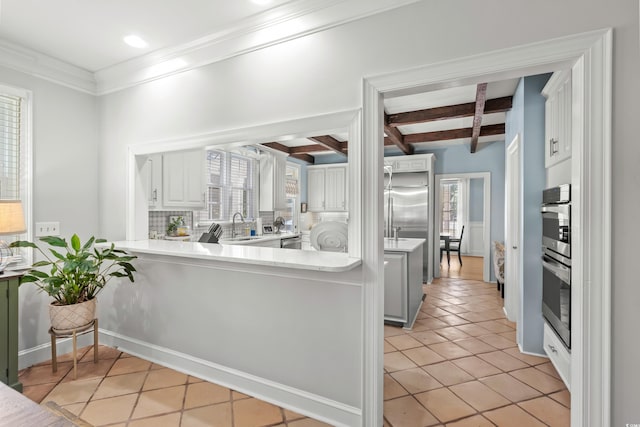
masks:
MULTIPOLYGON (((21 200, 25 224, 31 227, 30 182, 30 95, 27 91, 0 85, 0 199, 21 200)), ((31 233, 2 236, 10 243, 30 239, 31 233)), ((31 251, 14 249, 16 265, 31 264, 31 251)))

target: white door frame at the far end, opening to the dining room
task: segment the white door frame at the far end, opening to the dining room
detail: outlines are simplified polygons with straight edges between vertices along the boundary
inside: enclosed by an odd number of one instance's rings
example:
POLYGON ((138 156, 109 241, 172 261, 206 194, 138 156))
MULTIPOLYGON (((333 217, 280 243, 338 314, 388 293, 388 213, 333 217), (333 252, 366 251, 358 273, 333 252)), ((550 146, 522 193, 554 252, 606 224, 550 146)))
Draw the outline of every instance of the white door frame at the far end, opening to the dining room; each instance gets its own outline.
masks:
MULTIPOLYGON (((442 222, 442 215, 440 213, 440 181, 443 179, 451 178, 481 178, 483 183, 483 218, 482 218, 482 232, 484 234, 484 242, 482 243, 482 280, 489 282, 491 279, 491 173, 490 172, 470 172, 470 173, 447 173, 436 174, 436 183, 434 185, 434 207, 435 212, 435 225, 433 232, 440 230, 440 223, 442 222)), ((467 195, 468 196, 468 195, 467 195)), ((467 227, 467 233, 469 227, 467 227)), ((435 235, 434 235, 435 237, 435 235)), ((440 277, 440 268, 435 269, 436 265, 440 265, 440 239, 433 239, 433 265, 434 265, 434 277, 440 277), (437 276, 436 276, 437 274, 437 276)))

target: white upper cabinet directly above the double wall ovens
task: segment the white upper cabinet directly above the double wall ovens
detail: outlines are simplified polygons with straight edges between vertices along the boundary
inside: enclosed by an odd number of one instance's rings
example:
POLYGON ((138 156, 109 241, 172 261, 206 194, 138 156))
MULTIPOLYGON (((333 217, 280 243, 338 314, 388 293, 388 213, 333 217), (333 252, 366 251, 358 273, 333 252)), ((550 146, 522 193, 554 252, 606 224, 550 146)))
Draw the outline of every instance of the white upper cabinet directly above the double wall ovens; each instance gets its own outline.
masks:
POLYGON ((545 102, 545 167, 571 157, 571 70, 553 73, 542 95, 545 102))

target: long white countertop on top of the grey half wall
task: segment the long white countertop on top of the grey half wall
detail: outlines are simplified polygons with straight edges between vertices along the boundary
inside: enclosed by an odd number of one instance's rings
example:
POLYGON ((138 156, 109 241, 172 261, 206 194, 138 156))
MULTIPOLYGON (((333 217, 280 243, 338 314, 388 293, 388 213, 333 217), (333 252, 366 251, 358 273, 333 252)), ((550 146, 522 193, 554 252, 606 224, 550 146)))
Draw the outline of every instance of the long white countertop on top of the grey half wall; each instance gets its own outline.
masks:
MULTIPOLYGON (((281 238, 282 235, 280 235, 281 238)), ((362 263, 359 258, 338 252, 301 251, 237 244, 176 242, 169 240, 126 240, 113 242, 118 249, 132 253, 210 259, 243 264, 340 272, 362 263)))

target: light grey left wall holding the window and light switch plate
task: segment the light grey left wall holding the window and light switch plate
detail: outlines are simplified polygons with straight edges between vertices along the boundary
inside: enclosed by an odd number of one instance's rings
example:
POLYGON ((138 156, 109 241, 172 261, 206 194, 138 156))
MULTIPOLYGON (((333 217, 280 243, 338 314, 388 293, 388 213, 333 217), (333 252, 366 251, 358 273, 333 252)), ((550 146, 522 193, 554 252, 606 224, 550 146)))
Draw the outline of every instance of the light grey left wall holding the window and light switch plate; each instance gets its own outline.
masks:
MULTIPOLYGON (((63 236, 98 232, 95 97, 0 67, 0 83, 33 94, 33 220, 60 221, 63 236)), ((32 226, 34 224, 31 224, 32 226)), ((20 287, 20 350, 49 342, 49 297, 20 287)))

